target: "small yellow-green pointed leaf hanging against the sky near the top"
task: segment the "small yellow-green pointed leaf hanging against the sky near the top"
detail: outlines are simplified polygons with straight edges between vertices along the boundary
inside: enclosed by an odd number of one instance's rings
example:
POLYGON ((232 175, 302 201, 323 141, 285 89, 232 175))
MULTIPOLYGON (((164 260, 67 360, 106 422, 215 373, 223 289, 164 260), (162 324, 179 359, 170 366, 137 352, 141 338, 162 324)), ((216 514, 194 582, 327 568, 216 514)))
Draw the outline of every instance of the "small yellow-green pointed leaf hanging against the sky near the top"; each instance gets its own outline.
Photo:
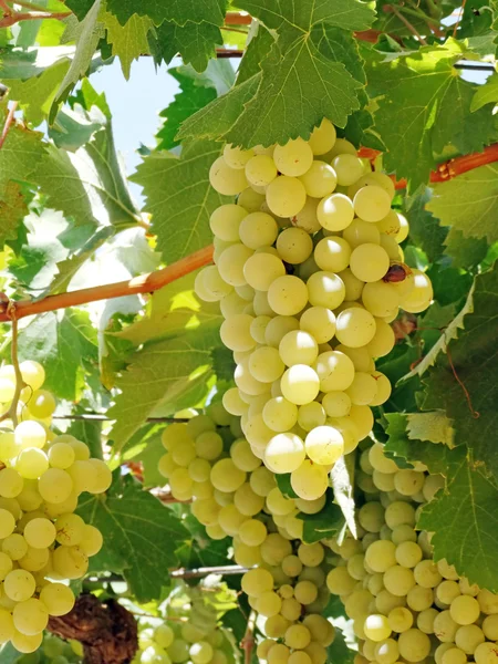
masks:
POLYGON ((102 22, 107 30, 112 53, 120 58, 124 77, 128 80, 132 62, 149 52, 147 38, 154 23, 148 17, 133 14, 125 25, 122 25, 108 11, 103 14, 102 22))

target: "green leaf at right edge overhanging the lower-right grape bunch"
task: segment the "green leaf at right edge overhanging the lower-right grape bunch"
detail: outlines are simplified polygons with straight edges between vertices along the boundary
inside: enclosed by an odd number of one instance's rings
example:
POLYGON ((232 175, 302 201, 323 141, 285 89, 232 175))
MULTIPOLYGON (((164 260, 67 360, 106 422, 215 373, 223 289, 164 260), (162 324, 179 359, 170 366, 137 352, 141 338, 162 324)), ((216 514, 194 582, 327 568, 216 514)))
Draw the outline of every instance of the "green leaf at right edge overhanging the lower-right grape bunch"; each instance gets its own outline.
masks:
POLYGON ((445 558, 470 583, 497 592, 498 485, 465 448, 450 453, 447 473, 446 489, 424 506, 417 526, 434 533, 435 560, 445 558))

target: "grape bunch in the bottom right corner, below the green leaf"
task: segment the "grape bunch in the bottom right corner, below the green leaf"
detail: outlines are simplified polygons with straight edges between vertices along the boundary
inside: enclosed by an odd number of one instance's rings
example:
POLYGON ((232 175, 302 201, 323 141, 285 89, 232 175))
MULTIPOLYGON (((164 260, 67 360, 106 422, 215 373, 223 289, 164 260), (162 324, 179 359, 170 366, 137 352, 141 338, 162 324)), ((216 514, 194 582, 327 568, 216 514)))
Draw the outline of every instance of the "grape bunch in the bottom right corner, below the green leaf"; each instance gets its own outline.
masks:
POLYGON ((326 578, 354 621, 355 664, 496 664, 498 594, 435 562, 430 535, 416 529, 443 477, 422 464, 400 469, 377 443, 362 453, 359 476, 360 537, 330 542, 338 560, 326 578))

